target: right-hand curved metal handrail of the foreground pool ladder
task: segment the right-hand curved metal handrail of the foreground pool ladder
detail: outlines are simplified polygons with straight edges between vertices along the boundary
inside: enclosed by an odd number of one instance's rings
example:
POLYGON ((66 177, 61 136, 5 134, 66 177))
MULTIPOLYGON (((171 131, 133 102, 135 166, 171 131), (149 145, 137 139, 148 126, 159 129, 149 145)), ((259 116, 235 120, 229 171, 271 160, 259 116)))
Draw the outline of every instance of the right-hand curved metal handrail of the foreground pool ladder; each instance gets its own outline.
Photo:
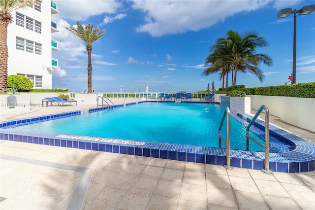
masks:
POLYGON ((261 105, 257 110, 256 114, 252 118, 251 122, 248 124, 246 128, 246 149, 249 150, 250 147, 250 139, 257 143, 259 146, 265 148, 265 161, 264 161, 264 169, 261 171, 266 174, 272 174, 272 171, 269 170, 269 109, 266 105, 261 105), (250 136, 250 128, 254 121, 257 119, 259 114, 261 113, 262 109, 265 110, 265 144, 255 140, 253 137, 250 136))

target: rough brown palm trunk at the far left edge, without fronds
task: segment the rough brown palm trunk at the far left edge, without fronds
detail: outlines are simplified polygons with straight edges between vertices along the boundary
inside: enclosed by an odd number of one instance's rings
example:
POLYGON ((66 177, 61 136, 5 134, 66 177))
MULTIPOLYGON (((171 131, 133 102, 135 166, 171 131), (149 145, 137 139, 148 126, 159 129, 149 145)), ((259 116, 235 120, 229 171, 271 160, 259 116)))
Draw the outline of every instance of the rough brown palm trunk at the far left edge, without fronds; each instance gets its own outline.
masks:
POLYGON ((10 16, 1 15, 0 18, 0 94, 6 94, 6 80, 8 76, 8 46, 7 33, 8 25, 11 21, 10 16))

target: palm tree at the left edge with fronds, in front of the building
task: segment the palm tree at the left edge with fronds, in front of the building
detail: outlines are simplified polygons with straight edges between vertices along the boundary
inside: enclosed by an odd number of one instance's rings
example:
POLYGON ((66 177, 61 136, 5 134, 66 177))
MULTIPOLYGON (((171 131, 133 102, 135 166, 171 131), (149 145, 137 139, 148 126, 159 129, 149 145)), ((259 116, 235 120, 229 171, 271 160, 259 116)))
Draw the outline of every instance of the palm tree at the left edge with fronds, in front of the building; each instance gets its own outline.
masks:
POLYGON ((0 94, 6 94, 8 75, 8 25, 13 22, 11 12, 41 3, 41 0, 0 0, 0 94))

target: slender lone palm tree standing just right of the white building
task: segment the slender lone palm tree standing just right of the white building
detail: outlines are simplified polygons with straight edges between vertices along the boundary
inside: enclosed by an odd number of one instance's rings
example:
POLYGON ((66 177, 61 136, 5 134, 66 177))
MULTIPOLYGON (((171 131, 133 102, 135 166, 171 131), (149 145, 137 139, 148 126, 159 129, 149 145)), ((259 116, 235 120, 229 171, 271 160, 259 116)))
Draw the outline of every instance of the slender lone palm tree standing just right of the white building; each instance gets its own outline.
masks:
POLYGON ((92 93, 92 43, 104 35, 106 29, 98 33, 100 25, 96 29, 93 28, 93 24, 90 23, 85 28, 77 21, 76 27, 65 27, 73 35, 79 37, 86 44, 88 51, 88 93, 92 93))

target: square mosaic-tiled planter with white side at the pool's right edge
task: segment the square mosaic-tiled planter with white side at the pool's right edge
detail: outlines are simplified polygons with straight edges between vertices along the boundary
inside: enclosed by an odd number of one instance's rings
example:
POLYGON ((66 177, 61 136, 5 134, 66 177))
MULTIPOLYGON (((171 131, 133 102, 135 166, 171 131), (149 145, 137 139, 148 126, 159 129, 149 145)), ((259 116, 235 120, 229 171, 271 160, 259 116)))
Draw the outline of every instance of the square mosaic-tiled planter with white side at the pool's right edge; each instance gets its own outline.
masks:
POLYGON ((221 96, 221 109, 230 108, 231 114, 246 113, 251 114, 250 97, 230 97, 221 96))

